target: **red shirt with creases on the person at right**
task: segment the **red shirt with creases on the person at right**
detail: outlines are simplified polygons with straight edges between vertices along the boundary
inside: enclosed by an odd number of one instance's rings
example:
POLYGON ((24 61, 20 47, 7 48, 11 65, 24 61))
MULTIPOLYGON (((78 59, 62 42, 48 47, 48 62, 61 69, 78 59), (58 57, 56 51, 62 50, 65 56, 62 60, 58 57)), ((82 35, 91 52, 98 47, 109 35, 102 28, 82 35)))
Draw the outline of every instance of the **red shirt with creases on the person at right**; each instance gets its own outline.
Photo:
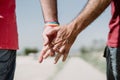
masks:
POLYGON ((120 0, 112 0, 112 19, 109 24, 110 32, 107 45, 120 47, 120 0))

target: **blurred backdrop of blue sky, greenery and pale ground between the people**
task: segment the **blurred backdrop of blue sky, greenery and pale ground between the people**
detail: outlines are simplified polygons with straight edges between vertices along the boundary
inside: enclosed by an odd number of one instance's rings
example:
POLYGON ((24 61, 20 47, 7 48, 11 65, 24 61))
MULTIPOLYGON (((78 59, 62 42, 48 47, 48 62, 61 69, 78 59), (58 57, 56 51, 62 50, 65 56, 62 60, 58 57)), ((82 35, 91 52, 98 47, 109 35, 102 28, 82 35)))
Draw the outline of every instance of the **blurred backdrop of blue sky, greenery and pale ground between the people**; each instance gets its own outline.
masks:
MULTIPOLYGON (((87 0, 58 0, 61 25, 72 21, 87 0)), ((42 49, 43 16, 39 0, 16 0, 19 50, 15 80, 106 80, 104 48, 111 18, 110 6, 77 37, 66 62, 54 57, 38 63, 42 49)))

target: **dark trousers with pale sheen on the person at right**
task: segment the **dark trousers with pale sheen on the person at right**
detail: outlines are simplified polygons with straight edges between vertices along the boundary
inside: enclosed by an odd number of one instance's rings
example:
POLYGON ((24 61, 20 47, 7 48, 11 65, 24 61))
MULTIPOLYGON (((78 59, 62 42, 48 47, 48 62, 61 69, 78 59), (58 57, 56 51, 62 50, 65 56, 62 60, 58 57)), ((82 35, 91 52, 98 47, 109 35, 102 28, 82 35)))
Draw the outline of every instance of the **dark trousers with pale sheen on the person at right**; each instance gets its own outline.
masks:
POLYGON ((107 80, 120 80, 120 48, 106 47, 107 80))

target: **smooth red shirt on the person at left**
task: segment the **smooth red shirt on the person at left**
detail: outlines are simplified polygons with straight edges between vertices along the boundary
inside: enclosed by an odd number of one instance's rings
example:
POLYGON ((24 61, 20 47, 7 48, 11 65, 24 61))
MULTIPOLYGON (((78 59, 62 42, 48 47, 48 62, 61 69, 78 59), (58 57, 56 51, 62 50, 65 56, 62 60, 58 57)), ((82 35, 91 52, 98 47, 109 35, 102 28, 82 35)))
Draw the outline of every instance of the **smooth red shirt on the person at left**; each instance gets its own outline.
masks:
POLYGON ((0 0, 0 49, 18 49, 15 0, 0 0))

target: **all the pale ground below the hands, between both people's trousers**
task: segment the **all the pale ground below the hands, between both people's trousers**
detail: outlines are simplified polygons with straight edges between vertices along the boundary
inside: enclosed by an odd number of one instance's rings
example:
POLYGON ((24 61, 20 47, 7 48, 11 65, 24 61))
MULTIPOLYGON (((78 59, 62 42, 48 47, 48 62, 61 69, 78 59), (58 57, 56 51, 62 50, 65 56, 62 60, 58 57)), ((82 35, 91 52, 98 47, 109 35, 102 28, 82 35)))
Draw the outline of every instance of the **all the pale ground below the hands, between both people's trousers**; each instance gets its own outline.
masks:
POLYGON ((58 74, 57 67, 50 58, 39 64, 33 57, 18 57, 15 80, 106 80, 104 74, 80 58, 71 58, 58 74))

